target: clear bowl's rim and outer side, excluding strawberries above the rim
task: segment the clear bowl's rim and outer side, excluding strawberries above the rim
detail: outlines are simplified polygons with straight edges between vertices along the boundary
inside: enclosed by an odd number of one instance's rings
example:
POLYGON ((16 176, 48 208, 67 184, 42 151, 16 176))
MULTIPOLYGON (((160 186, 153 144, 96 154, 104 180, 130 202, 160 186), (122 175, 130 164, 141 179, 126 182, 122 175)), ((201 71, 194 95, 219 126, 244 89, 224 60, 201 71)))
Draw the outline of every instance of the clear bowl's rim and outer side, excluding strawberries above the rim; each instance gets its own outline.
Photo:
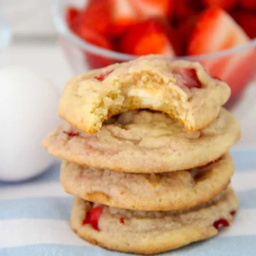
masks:
MULTIPOLYGON (((69 30, 65 22, 66 7, 73 5, 82 7, 84 0, 55 0, 53 5, 54 23, 59 33, 68 62, 75 74, 85 70, 102 68, 104 66, 137 58, 112 50, 97 47, 76 36, 69 30)), ((228 82, 231 87, 231 98, 238 98, 241 92, 256 78, 256 38, 242 46, 216 53, 183 56, 173 60, 185 59, 197 61, 214 77, 228 82)))

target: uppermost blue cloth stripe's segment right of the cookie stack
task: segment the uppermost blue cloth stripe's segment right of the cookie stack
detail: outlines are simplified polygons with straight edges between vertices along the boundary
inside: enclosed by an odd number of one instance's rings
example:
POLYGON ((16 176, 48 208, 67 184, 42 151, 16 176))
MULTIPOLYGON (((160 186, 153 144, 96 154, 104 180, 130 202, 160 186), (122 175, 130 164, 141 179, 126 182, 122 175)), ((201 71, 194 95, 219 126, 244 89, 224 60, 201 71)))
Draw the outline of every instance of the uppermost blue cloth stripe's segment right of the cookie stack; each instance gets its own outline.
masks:
POLYGON ((256 149, 230 150, 236 171, 256 169, 256 149))

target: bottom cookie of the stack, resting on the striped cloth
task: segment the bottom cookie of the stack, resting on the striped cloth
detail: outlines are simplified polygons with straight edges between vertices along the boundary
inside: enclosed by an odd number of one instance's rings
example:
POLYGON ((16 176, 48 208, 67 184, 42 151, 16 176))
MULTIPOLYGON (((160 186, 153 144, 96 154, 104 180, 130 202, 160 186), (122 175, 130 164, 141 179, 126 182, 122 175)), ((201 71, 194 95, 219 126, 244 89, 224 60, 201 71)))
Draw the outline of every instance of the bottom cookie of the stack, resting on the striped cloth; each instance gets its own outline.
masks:
POLYGON ((186 211, 144 212, 95 205, 75 197, 71 228, 83 239, 110 250, 157 254, 208 239, 233 222, 238 199, 230 188, 186 211))

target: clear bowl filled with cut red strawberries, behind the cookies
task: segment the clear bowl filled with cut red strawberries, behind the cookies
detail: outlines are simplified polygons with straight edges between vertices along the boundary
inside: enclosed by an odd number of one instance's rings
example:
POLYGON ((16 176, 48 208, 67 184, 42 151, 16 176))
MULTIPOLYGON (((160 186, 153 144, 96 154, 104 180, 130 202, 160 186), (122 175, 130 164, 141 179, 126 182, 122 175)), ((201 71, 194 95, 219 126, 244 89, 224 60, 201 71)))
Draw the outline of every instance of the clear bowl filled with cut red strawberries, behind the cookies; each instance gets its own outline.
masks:
POLYGON ((252 0, 56 0, 54 21, 76 74, 161 54, 201 62, 236 98, 256 76, 252 0))

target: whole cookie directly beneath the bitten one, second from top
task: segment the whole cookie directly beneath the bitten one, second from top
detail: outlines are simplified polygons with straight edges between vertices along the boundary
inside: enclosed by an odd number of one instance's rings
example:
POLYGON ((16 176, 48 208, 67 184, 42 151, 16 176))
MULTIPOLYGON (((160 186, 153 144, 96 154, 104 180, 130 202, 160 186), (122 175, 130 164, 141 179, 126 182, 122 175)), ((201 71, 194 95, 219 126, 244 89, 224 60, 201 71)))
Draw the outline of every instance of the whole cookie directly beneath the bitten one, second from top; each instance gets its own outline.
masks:
POLYGON ((223 108, 206 128, 190 133, 166 114, 137 110, 108 120, 95 134, 64 124, 44 140, 44 146, 50 154, 80 165, 156 173, 206 165, 239 138, 238 122, 223 108))

